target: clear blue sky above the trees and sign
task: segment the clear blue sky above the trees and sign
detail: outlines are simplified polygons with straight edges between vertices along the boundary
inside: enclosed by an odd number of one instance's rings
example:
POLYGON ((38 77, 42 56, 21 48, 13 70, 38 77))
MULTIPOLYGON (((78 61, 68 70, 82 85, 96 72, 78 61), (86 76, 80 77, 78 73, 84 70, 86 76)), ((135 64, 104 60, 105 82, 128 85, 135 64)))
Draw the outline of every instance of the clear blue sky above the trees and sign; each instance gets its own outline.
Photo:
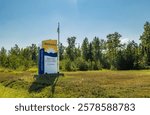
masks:
POLYGON ((135 40, 150 21, 150 0, 0 0, 0 47, 18 44, 26 47, 45 39, 57 39, 60 22, 61 42, 76 36, 106 39, 119 32, 122 41, 135 40))

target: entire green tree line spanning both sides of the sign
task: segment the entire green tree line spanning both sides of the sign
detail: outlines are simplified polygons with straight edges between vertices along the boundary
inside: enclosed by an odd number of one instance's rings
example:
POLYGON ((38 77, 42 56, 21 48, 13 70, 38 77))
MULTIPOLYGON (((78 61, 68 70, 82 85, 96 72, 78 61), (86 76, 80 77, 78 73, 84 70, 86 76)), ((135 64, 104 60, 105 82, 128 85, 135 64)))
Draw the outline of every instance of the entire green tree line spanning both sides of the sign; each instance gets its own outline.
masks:
MULTIPOLYGON (((150 23, 144 24, 140 43, 134 40, 121 43, 121 34, 114 32, 105 39, 94 37, 90 42, 84 38, 81 46, 76 45, 76 37, 67 39, 68 46, 61 43, 60 69, 65 71, 86 70, 133 70, 150 68, 150 23)), ((10 50, 0 50, 0 66, 10 69, 28 69, 38 64, 38 47, 26 48, 15 45, 10 50)))

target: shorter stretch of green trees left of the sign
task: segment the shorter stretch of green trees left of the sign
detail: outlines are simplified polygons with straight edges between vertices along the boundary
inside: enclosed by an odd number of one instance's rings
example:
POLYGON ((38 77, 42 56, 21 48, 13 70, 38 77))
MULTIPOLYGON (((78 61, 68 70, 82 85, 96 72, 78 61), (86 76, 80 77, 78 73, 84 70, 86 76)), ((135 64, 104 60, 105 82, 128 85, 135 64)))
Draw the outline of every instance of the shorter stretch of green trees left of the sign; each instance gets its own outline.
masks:
POLYGON ((37 66, 38 47, 35 44, 26 48, 19 48, 17 44, 7 51, 4 47, 0 50, 0 66, 9 69, 27 70, 37 66))

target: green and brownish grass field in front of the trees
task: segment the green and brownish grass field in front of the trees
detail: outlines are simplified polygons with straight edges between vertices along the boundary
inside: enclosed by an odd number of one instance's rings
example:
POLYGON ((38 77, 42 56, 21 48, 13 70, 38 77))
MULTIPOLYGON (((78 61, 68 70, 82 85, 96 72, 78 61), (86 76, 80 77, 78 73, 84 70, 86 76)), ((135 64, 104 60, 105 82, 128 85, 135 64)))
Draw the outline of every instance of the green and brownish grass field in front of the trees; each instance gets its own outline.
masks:
POLYGON ((64 77, 34 79, 36 70, 0 70, 0 97, 150 97, 150 70, 64 72, 64 77))

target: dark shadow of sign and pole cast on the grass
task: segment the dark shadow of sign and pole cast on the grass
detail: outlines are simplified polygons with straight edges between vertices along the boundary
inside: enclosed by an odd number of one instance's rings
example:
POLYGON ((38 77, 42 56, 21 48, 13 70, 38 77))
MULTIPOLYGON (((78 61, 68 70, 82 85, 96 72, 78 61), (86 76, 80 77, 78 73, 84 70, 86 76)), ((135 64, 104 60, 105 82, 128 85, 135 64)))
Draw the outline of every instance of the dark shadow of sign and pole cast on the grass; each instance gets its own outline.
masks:
POLYGON ((36 80, 31 84, 28 91, 32 92, 41 92, 45 87, 51 86, 51 94, 54 97, 55 94, 55 86, 57 84, 59 76, 51 76, 51 75, 43 75, 40 77, 36 77, 36 80))

